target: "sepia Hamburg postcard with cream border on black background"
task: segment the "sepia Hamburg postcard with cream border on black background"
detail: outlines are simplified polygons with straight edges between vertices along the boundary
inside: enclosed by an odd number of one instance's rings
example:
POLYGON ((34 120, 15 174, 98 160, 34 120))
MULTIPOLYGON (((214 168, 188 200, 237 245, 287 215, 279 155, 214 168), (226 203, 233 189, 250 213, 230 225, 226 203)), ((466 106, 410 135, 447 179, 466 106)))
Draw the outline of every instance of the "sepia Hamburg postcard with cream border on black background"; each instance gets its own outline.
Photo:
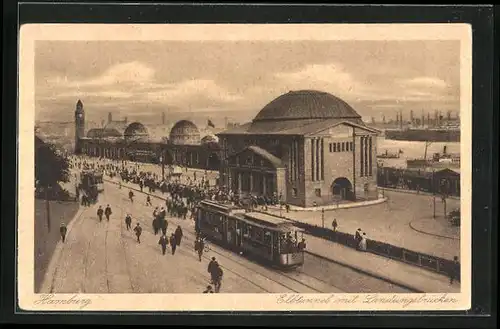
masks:
POLYGON ((466 24, 24 25, 24 310, 466 310, 466 24))

